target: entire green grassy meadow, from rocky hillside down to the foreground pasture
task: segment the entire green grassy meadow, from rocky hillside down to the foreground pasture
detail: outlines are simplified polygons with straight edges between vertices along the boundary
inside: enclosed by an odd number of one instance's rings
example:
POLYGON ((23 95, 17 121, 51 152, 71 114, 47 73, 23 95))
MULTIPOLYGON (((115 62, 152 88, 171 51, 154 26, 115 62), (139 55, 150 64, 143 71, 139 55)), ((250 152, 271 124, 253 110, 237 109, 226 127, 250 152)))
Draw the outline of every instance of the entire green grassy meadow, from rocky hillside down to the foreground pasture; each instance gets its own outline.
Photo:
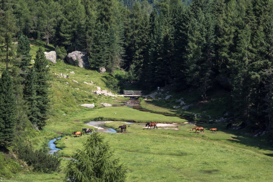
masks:
MULTIPOLYGON (((34 54, 37 46, 44 46, 44 42, 41 41, 32 40, 31 44, 32 54, 34 54)), ((52 45, 49 45, 49 49, 45 51, 49 52, 50 50, 54 50, 52 45)), ((202 116, 202 118, 197 118, 197 121, 207 122, 209 116, 213 118, 222 117, 225 112, 229 111, 229 93, 224 90, 216 93, 215 89, 212 89, 211 93, 208 94, 207 102, 197 101, 200 100, 200 96, 189 93, 188 90, 179 94, 169 90, 171 91, 170 94, 173 95, 171 100, 157 100, 163 98, 163 96, 157 96, 155 99, 148 99, 147 101, 142 99, 140 103, 143 108, 148 110, 183 116, 185 120, 180 117, 138 111, 127 106, 104 107, 101 103, 120 105, 128 100, 128 98, 120 96, 104 96, 93 93, 97 86, 101 90, 109 91, 105 82, 107 77, 112 77, 112 75, 109 73, 100 74, 97 71, 72 66, 64 62, 49 63, 49 67, 52 75, 50 118, 47 125, 35 136, 29 136, 31 141, 25 141, 31 142, 35 149, 40 149, 44 140, 49 141, 59 137, 63 132, 72 133, 81 131, 82 128, 95 129, 92 126, 86 126, 84 123, 101 116, 104 117, 104 120, 114 121, 105 125, 117 130, 118 126, 123 125, 123 122, 128 120, 135 120, 140 123, 184 123, 187 120, 192 121, 192 114, 197 113, 202 116), (75 74, 70 74, 71 71, 74 71, 75 74), (58 74, 61 73, 69 74, 70 78, 60 78, 58 74), (83 83, 90 83, 91 80, 94 82, 93 85, 83 83), (186 104, 194 103, 194 107, 188 111, 181 108, 174 109, 173 106, 179 105, 175 101, 181 97, 184 98, 186 104), (87 103, 94 103, 95 107, 89 109, 80 106, 87 103)), ((115 95, 116 93, 112 92, 112 94, 115 95)), ((261 141, 260 138, 243 134, 246 132, 244 130, 226 130, 226 124, 197 124, 197 126, 205 129, 205 134, 199 134, 190 131, 194 126, 187 124, 147 130, 145 127, 134 123, 126 124, 127 130, 124 133, 102 133, 102 135, 115 150, 116 157, 119 157, 121 162, 128 166, 130 170, 127 174, 128 182, 271 181, 273 148, 261 141), (210 128, 217 128, 217 133, 211 133, 210 128)), ((81 142, 88 136, 74 137, 70 135, 66 136, 68 139, 62 137, 55 142, 56 147, 62 148, 61 155, 63 158, 73 157, 75 149, 80 149, 81 142)), ((2 154, 0 161, 13 165, 2 154)), ((16 164, 18 169, 14 169, 16 174, 9 174, 5 181, 62 181, 66 162, 67 160, 62 160, 61 171, 52 174, 33 172, 30 166, 20 168, 21 163, 18 163, 16 164)), ((5 171, 8 171, 12 165, 7 165, 5 171)))

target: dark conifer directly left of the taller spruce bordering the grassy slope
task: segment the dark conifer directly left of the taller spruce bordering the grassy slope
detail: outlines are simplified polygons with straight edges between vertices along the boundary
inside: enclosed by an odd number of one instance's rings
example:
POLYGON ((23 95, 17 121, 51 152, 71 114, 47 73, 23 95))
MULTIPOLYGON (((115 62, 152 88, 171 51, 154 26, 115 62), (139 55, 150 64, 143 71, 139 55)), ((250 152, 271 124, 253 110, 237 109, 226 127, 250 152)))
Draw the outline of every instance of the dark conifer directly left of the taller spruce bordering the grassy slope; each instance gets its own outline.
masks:
POLYGON ((38 89, 37 84, 37 74, 34 67, 31 67, 25 80, 24 97, 29 109, 28 117, 33 126, 39 125, 43 120, 43 118, 40 117, 41 113, 37 102, 37 100, 39 100, 36 93, 38 89))

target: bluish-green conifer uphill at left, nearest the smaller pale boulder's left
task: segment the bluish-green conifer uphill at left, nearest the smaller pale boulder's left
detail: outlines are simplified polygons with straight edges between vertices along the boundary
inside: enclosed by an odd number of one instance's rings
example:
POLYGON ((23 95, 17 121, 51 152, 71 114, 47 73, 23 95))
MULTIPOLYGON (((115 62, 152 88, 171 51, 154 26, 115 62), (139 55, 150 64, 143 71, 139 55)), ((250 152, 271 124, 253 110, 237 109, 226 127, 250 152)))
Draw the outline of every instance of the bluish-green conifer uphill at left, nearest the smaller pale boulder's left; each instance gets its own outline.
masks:
POLYGON ((23 71, 23 74, 30 66, 30 60, 32 57, 29 53, 30 49, 30 42, 27 36, 20 36, 18 39, 17 56, 21 57, 21 61, 17 65, 23 71))

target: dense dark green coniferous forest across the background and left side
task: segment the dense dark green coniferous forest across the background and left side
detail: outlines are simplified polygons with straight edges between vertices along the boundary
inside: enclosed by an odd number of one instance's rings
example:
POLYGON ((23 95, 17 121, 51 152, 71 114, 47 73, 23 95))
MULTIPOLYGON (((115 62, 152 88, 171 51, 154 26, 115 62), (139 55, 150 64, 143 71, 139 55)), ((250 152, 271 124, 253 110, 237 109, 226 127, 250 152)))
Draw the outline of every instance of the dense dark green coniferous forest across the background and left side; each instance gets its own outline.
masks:
POLYGON ((2 0, 0 146, 50 114, 48 63, 39 48, 30 68, 29 39, 61 59, 87 52, 91 69, 125 70, 143 90, 194 88, 206 101, 222 82, 238 123, 272 130, 272 0, 2 0))

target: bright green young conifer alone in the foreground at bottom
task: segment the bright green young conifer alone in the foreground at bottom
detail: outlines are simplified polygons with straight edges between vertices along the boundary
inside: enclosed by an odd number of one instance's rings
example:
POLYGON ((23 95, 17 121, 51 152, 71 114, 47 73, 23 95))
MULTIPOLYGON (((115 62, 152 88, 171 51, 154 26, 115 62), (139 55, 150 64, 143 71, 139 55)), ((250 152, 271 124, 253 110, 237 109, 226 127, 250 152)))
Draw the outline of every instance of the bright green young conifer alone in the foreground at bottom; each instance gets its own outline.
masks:
POLYGON ((83 149, 76 150, 75 160, 69 160, 66 166, 65 181, 70 178, 78 182, 85 181, 125 181, 126 167, 119 164, 114 151, 104 141, 99 132, 93 132, 83 142, 83 149))

